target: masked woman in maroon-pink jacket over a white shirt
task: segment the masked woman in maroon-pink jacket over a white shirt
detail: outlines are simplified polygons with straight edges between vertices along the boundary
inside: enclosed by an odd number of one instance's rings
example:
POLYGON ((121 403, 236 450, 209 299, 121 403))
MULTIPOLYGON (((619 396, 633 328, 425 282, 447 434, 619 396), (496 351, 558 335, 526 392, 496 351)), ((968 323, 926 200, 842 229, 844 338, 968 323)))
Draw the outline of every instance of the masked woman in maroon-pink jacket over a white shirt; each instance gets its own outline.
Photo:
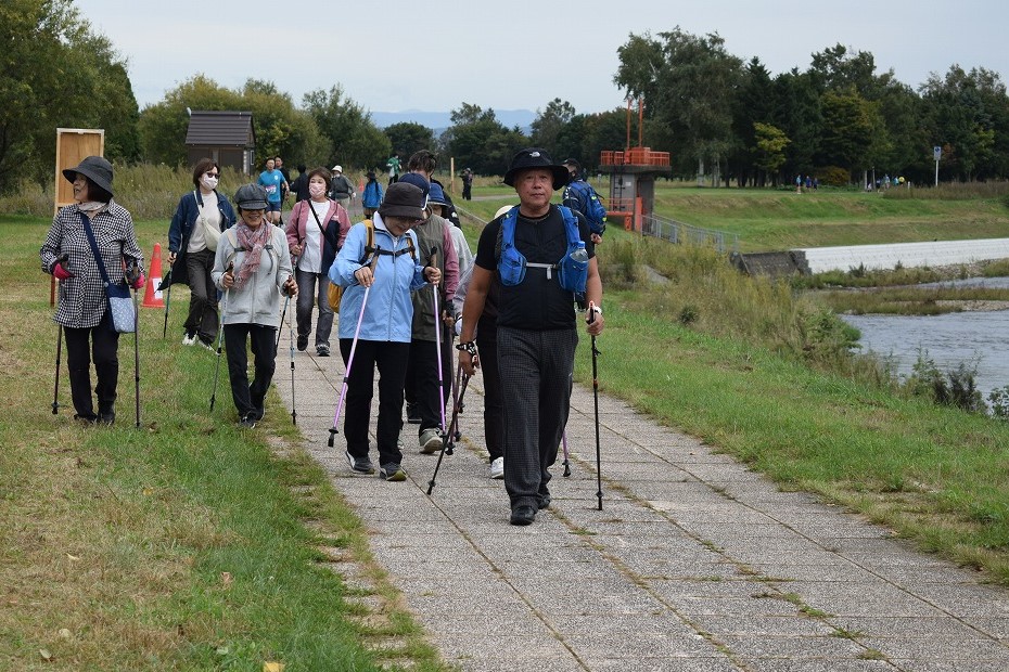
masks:
POLYGON ((350 229, 350 217, 342 205, 327 197, 330 171, 316 168, 308 173, 308 201, 298 201, 288 220, 288 245, 295 258, 297 277, 297 349, 308 348, 312 299, 319 305, 316 323, 316 354, 330 356, 333 308, 329 301, 330 267, 350 229))

